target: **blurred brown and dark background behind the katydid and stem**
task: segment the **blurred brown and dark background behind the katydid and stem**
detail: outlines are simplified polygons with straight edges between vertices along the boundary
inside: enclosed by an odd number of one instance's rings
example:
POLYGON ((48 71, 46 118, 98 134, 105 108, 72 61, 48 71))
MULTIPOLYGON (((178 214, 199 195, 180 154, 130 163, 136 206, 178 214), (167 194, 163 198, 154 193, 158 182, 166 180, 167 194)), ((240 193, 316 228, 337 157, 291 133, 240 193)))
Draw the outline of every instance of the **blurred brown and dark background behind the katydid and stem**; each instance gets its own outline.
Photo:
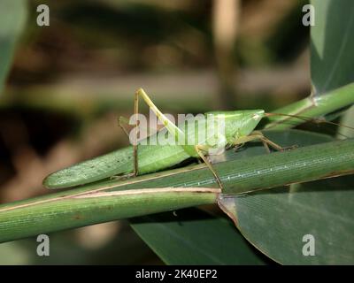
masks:
MULTIPOLYGON (((28 1, 0 96, 0 203, 128 139, 117 118, 145 88, 168 113, 271 111, 310 93, 299 0, 28 1), (39 4, 50 27, 38 27, 39 4)), ((0 62, 1 64, 1 62, 0 62)), ((142 107, 142 112, 147 108, 142 107)), ((126 221, 0 245, 0 264, 162 264, 126 221)))

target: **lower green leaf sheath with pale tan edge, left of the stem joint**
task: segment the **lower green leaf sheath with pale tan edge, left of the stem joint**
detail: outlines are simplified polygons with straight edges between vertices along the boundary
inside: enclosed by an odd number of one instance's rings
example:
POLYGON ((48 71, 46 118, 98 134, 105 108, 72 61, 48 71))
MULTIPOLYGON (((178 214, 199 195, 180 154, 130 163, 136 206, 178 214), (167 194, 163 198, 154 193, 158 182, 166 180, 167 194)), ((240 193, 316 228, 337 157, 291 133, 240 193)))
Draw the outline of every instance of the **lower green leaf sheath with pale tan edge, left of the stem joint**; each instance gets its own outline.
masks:
MULTIPOLYGON (((113 185, 110 188, 115 187, 113 185)), ((162 192, 154 189, 149 192, 132 189, 112 192, 108 188, 95 194, 92 193, 95 188, 84 187, 74 192, 50 194, 0 206, 0 242, 119 218, 215 203, 217 196, 215 192, 181 192, 171 188, 162 192)))

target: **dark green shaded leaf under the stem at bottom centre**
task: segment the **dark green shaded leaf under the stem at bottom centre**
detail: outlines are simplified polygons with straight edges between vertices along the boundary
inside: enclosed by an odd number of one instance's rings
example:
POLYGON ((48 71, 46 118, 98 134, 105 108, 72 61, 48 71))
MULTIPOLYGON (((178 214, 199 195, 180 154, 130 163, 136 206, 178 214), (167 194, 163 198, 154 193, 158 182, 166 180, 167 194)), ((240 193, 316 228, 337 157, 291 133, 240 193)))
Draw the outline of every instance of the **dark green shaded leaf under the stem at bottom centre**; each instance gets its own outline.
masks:
POLYGON ((197 209, 135 218, 132 227, 166 264, 265 264, 231 221, 197 209))

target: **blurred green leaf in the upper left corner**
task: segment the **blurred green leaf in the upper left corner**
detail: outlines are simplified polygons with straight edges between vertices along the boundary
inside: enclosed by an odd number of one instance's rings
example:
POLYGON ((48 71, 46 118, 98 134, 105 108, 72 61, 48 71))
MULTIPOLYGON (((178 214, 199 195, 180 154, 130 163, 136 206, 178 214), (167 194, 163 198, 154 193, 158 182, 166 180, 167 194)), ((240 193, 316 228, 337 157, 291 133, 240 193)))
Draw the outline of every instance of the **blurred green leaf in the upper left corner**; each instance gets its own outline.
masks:
POLYGON ((25 27, 27 0, 0 1, 0 93, 12 64, 15 44, 25 27))

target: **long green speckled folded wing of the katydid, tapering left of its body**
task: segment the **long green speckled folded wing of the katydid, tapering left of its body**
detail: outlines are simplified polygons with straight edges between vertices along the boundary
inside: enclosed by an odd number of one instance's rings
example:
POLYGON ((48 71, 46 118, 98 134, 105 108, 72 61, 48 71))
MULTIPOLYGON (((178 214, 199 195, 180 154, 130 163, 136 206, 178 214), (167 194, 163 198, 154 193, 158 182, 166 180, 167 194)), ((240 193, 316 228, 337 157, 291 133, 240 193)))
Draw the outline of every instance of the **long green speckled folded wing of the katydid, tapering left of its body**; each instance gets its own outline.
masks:
MULTIPOLYGON (((139 173, 157 172, 187 158, 189 155, 178 145, 142 145, 138 150, 139 173)), ((131 172, 134 172, 133 147, 129 146, 54 172, 43 180, 43 185, 74 187, 131 172)))

